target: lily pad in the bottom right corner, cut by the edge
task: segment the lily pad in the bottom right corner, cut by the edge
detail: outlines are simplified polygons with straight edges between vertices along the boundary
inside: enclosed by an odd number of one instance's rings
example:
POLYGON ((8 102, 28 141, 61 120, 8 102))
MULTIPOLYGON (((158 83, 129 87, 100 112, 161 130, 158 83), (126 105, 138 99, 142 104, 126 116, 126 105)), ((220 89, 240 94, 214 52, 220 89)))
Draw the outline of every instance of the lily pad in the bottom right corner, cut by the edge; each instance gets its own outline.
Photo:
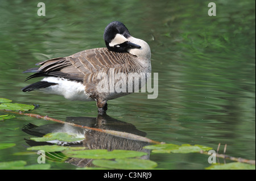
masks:
POLYGON ((207 170, 255 170, 255 165, 250 165, 247 163, 232 162, 226 164, 213 164, 205 168, 207 170))

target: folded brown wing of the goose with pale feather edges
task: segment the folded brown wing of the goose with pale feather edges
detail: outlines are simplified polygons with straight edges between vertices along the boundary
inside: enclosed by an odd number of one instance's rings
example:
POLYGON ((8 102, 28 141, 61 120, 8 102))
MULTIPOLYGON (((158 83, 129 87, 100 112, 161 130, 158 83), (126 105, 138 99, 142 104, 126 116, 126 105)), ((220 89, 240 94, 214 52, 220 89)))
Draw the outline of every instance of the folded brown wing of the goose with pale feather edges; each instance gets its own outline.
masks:
POLYGON ((36 72, 28 77, 56 76, 84 81, 102 69, 119 68, 125 65, 127 59, 133 56, 129 53, 116 53, 107 48, 84 50, 68 57, 53 58, 39 62, 38 69, 28 69, 26 72, 36 72), (31 70, 31 71, 30 71, 31 70))

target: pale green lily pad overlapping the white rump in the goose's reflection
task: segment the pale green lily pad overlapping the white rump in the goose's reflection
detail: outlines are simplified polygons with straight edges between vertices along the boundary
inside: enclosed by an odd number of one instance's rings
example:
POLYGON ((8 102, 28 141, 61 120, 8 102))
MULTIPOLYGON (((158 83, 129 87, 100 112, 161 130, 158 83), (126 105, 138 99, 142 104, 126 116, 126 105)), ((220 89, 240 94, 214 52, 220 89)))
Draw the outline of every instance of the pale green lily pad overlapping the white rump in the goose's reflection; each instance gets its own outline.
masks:
POLYGON ((72 141, 81 141, 84 140, 85 137, 78 137, 77 134, 72 134, 72 133, 48 133, 44 135, 43 137, 35 137, 35 138, 30 138, 30 140, 34 141, 53 141, 53 140, 59 140, 59 141, 67 141, 67 142, 72 142, 72 141))

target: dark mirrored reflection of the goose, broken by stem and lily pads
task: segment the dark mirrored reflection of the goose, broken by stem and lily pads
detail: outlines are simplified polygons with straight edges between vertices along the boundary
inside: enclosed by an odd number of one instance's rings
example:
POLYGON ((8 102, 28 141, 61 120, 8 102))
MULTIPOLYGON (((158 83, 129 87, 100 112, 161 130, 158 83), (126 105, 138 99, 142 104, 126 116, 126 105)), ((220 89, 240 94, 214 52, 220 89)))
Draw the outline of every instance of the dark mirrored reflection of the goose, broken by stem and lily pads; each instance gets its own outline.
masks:
MULTIPOLYGON (((106 113, 103 115, 98 115, 97 117, 67 117, 66 121, 91 128, 108 129, 113 131, 132 133, 143 137, 146 136, 145 132, 139 131, 133 124, 114 119, 113 117, 106 115, 106 113)), ((112 151, 114 149, 135 150, 147 153, 147 155, 144 155, 141 157, 141 159, 149 159, 150 155, 149 150, 143 149, 143 146, 148 145, 148 142, 130 140, 128 138, 113 136, 111 134, 93 131, 90 129, 72 127, 68 124, 52 123, 38 127, 29 123, 23 126, 22 131, 37 137, 42 137, 47 133, 54 132, 75 133, 85 137, 84 140, 75 142, 61 142, 56 140, 49 142, 36 142, 25 138, 26 143, 30 146, 57 144, 64 146, 85 146, 88 149, 107 149, 108 151, 112 151)), ((68 158, 65 162, 79 167, 92 165, 92 159, 68 158)))

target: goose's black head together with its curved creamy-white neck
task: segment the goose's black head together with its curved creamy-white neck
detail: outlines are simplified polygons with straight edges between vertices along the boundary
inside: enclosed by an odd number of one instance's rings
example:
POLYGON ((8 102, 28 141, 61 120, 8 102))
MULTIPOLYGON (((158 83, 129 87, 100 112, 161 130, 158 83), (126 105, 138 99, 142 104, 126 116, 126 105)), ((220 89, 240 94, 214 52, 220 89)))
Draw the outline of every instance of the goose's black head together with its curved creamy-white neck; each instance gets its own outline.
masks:
POLYGON ((104 40, 106 47, 113 52, 129 52, 134 56, 150 59, 150 47, 141 40, 130 35, 121 22, 109 23, 105 28, 104 40))

